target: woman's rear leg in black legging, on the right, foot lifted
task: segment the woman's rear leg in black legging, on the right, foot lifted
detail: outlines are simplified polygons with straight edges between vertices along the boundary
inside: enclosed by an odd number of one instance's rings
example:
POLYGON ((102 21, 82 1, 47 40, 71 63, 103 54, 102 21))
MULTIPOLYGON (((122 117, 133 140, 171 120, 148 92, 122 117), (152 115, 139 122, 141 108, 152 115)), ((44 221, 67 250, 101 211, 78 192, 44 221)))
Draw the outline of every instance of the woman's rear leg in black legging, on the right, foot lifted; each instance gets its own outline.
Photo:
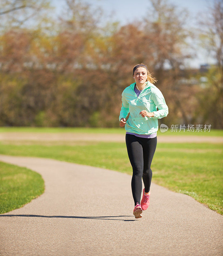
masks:
POLYGON ((143 174, 142 180, 145 186, 145 193, 148 193, 150 190, 151 180, 152 180, 152 170, 150 168, 153 156, 155 154, 157 137, 145 139, 143 146, 143 174))

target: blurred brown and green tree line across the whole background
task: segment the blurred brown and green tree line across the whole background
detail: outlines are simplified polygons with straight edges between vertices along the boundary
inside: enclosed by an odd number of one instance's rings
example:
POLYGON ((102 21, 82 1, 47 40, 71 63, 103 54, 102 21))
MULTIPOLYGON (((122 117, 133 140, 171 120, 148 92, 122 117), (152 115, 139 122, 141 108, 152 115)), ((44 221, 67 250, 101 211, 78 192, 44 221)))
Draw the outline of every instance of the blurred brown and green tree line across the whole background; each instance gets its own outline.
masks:
POLYGON ((50 1, 1 3, 1 126, 117 127, 121 93, 143 62, 169 107, 159 122, 223 128, 221 1, 196 33, 186 27, 188 13, 163 0, 150 0, 147 15, 124 26, 103 24, 89 4, 65 3, 56 18, 50 1), (188 39, 216 59, 205 74, 185 64, 194 55, 188 39), (189 82, 201 76, 205 87, 189 82))

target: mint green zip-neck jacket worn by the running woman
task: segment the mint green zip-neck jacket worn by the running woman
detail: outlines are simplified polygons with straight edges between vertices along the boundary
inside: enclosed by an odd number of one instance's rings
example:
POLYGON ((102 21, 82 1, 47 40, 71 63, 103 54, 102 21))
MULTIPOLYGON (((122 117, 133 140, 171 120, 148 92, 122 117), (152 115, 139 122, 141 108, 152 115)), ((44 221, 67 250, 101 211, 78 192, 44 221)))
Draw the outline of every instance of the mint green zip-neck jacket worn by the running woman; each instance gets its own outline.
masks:
POLYGON ((130 116, 125 124, 126 132, 138 134, 151 134, 158 131, 158 118, 167 116, 169 111, 164 100, 162 92, 150 82, 146 82, 145 88, 140 92, 137 98, 134 92, 136 83, 130 84, 122 92, 122 108, 119 115, 121 118, 126 118, 130 112, 130 116), (158 108, 158 111, 157 111, 158 108), (147 110, 154 112, 153 117, 142 117, 140 111, 147 110))

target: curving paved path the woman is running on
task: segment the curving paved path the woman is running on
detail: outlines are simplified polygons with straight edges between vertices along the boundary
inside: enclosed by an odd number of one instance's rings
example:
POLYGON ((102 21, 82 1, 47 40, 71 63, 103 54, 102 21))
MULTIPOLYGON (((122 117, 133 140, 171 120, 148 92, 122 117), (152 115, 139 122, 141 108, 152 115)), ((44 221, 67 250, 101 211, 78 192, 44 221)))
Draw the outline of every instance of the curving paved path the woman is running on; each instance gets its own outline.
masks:
POLYGON ((132 214, 131 176, 36 157, 0 161, 39 172, 43 195, 0 215, 1 256, 220 256, 223 216, 152 183, 143 218, 132 214))

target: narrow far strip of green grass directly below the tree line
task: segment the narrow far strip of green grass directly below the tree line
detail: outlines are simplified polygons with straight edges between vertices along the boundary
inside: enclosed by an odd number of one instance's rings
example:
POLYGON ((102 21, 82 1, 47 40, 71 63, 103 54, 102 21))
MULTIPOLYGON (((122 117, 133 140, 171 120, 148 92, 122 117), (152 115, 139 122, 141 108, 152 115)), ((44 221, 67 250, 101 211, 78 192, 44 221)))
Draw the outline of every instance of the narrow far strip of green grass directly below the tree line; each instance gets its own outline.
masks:
MULTIPOLYGON (((117 123, 117 126, 119 124, 117 123)), ((187 129, 185 129, 187 130, 187 129)), ((124 128, 117 127, 117 128, 85 128, 85 127, 0 127, 0 132, 75 132, 75 133, 118 133, 124 134, 124 128)), ((157 134, 159 136, 166 136, 166 135, 199 135, 199 136, 223 136, 223 130, 211 129, 210 132, 179 132, 179 128, 177 132, 171 132, 170 127, 167 132, 160 132, 158 130, 157 134)))

